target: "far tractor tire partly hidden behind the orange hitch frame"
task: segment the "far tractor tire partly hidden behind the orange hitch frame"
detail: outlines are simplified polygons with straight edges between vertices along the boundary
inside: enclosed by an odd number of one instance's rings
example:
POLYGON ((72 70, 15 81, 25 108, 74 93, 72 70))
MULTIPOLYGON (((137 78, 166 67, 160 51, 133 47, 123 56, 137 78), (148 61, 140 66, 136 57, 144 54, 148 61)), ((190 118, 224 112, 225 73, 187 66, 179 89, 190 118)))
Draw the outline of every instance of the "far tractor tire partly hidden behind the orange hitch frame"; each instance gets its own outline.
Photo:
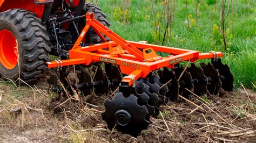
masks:
MULTIPOLYGON (((106 27, 110 26, 110 22, 106 19, 106 14, 102 12, 100 8, 97 6, 91 4, 91 3, 85 3, 82 14, 85 15, 86 12, 93 12, 95 13, 95 19, 98 20, 101 24, 103 24, 106 27)), ((84 27, 86 24, 85 19, 82 19, 79 21, 79 26, 84 27)), ((92 29, 89 28, 88 32, 86 33, 86 43, 87 44, 97 44, 102 42, 96 32, 92 29)))

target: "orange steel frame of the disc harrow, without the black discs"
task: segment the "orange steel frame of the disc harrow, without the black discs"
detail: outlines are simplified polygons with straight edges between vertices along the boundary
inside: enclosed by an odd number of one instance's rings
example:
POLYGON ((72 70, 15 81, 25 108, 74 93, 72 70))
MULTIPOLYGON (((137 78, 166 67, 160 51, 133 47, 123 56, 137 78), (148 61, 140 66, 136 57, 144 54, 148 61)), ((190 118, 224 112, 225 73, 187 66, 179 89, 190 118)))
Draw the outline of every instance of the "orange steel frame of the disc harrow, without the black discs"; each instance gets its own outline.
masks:
POLYGON ((128 75, 123 77, 120 85, 130 87, 135 85, 138 78, 145 78, 153 70, 163 67, 174 68, 175 64, 182 61, 194 62, 199 59, 218 59, 222 56, 221 52, 199 53, 188 49, 151 45, 145 41, 127 41, 99 23, 94 18, 93 12, 87 12, 86 25, 69 51, 70 59, 47 62, 47 64, 49 68, 62 68, 79 64, 91 65, 92 62, 113 63, 120 67, 123 74, 128 75), (102 43, 84 47, 85 33, 90 27, 95 30, 102 43), (111 41, 107 41, 103 34, 111 41), (169 55, 161 57, 156 52, 169 55))

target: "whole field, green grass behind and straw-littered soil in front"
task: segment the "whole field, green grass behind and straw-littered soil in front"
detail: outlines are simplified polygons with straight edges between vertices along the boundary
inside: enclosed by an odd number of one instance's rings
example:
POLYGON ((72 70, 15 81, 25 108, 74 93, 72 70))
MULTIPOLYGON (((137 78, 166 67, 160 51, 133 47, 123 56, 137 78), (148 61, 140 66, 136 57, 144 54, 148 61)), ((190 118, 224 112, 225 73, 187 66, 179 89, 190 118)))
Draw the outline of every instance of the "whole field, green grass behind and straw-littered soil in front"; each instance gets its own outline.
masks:
POLYGON ((127 40, 146 40, 200 52, 224 52, 223 62, 230 66, 235 77, 234 91, 221 92, 219 96, 192 94, 190 101, 180 98, 169 102, 162 106, 159 116, 151 118, 148 130, 134 138, 107 130, 101 118, 106 95, 93 95, 83 101, 75 95, 68 98, 52 93, 45 78, 31 86, 1 81, 0 142, 252 142, 256 139, 256 4, 253 1, 226 2, 226 49, 220 0, 216 3, 127 1, 125 23, 122 1, 91 2, 107 13, 111 30, 127 40), (167 24, 168 21, 172 24, 167 24))

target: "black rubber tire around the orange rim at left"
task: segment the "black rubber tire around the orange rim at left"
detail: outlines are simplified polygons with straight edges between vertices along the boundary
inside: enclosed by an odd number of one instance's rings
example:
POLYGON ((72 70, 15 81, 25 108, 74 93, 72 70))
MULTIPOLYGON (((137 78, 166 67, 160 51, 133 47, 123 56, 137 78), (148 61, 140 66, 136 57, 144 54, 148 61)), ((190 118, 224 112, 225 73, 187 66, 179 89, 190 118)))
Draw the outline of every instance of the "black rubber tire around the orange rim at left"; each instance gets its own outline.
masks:
POLYGON ((9 30, 14 35, 19 51, 19 64, 14 68, 7 69, 0 63, 3 77, 14 81, 21 77, 26 83, 34 83, 44 76, 51 48, 46 28, 41 23, 34 13, 22 9, 0 13, 0 31, 9 30))

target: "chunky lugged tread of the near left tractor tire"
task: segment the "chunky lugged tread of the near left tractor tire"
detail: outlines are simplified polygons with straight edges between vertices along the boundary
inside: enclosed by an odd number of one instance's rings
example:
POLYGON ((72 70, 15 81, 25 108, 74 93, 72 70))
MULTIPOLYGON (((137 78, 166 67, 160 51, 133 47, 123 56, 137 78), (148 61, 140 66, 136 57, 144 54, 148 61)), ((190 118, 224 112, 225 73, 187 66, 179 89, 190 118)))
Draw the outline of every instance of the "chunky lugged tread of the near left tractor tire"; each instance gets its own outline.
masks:
MULTIPOLYGON (((0 13, 0 19, 8 20, 18 31, 23 51, 21 61, 21 78, 26 83, 33 83, 44 76, 48 70, 46 63, 50 60, 48 53, 49 36, 42 21, 34 13, 23 9, 10 9, 0 13)), ((17 77, 16 77, 17 78, 17 77)))

